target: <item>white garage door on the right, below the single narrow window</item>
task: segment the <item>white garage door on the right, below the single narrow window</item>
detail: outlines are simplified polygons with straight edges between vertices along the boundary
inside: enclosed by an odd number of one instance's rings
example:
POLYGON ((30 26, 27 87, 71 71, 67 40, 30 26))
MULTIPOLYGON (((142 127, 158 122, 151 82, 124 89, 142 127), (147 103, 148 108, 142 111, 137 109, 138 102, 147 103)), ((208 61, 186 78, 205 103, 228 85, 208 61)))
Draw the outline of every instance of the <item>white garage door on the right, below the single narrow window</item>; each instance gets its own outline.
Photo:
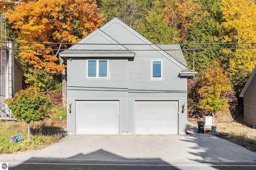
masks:
POLYGON ((135 134, 178 134, 178 102, 136 101, 135 134))

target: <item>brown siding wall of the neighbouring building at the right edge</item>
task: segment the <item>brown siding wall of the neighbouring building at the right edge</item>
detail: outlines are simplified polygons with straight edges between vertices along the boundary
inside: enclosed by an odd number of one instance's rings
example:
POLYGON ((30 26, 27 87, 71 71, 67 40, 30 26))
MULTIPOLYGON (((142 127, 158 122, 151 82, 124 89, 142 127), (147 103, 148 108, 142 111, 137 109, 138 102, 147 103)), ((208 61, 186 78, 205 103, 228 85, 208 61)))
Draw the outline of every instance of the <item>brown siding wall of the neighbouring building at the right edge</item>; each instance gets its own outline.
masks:
POLYGON ((248 86, 244 93, 244 104, 248 104, 248 114, 244 113, 244 119, 251 123, 252 126, 256 126, 256 76, 252 79, 252 82, 248 86), (248 115, 248 116, 247 116, 248 115))

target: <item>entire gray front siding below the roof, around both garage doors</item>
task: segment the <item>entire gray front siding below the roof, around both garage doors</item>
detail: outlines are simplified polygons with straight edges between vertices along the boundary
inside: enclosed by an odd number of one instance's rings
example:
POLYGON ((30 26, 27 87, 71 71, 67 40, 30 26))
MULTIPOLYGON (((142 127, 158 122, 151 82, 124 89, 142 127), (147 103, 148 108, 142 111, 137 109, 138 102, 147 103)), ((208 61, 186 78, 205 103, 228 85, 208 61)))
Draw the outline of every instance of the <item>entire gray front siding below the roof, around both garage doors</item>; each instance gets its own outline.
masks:
MULTIPOLYGON (((178 101, 178 129, 185 132, 186 113, 181 113, 180 103, 186 102, 187 81, 178 77, 181 71, 178 66, 161 59, 164 65, 162 80, 151 80, 151 61, 146 55, 134 61, 109 59, 109 78, 86 78, 86 58, 68 60, 68 103, 72 102, 75 110, 76 100, 119 100, 122 133, 134 130, 135 101, 178 101)), ((68 113, 68 131, 75 130, 74 120, 75 114, 68 113)))

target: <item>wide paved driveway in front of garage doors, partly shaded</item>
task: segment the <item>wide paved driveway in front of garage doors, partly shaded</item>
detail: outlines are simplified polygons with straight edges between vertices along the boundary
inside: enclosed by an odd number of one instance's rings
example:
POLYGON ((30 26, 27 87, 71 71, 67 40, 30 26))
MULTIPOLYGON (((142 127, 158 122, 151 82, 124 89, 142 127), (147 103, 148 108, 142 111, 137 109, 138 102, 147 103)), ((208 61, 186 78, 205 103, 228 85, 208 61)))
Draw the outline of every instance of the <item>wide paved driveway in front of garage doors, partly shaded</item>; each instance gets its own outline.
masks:
POLYGON ((39 161, 183 165, 243 162, 256 168, 256 152, 212 135, 192 132, 188 135, 152 136, 69 135, 41 150, 0 155, 0 162, 10 164, 39 161))

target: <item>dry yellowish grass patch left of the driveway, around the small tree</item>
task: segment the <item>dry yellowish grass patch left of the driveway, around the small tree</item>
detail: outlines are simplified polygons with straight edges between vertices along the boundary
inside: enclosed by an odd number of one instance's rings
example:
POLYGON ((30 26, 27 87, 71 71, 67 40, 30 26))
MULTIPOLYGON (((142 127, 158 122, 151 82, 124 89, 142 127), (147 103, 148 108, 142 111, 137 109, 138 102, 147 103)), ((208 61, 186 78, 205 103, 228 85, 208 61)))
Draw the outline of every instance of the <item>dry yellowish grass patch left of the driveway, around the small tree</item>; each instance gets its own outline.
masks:
POLYGON ((9 154, 30 149, 41 149, 52 143, 57 143, 66 135, 66 117, 63 115, 65 109, 60 108, 61 111, 57 110, 56 114, 50 119, 40 122, 31 122, 30 141, 28 141, 27 124, 25 122, 0 121, 0 154, 9 154), (58 120, 60 115, 63 115, 62 120, 58 120), (18 134, 22 135, 23 141, 20 143, 10 143, 10 137, 18 134))

